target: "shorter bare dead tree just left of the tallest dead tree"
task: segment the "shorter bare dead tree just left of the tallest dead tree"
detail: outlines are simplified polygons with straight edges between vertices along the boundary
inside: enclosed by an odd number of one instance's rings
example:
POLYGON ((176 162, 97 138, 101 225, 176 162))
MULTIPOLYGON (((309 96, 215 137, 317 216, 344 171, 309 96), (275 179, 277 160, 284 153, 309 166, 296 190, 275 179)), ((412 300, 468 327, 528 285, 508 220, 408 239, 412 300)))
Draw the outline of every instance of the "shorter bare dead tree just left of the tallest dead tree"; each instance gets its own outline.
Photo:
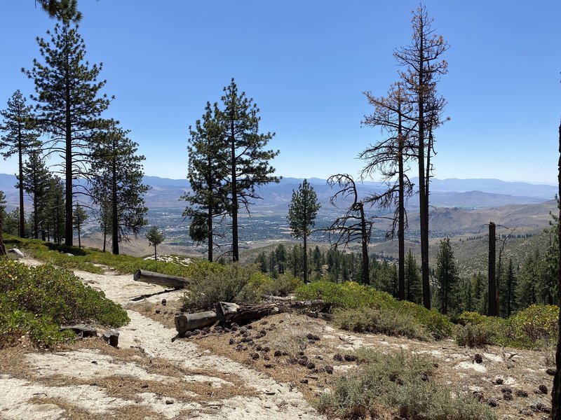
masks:
POLYGON ((363 124, 381 127, 387 138, 371 145, 358 156, 366 161, 361 172, 362 179, 372 178, 379 173, 386 181, 386 190, 372 194, 365 199, 367 204, 377 204, 380 209, 394 209, 390 217, 391 228, 386 232, 386 239, 398 235, 398 298, 405 299, 405 229, 407 213, 405 201, 413 193, 405 163, 414 157, 410 145, 410 134, 414 130, 412 104, 401 83, 393 85, 387 97, 377 98, 371 92, 365 92, 368 102, 374 106, 374 113, 365 116, 363 124))

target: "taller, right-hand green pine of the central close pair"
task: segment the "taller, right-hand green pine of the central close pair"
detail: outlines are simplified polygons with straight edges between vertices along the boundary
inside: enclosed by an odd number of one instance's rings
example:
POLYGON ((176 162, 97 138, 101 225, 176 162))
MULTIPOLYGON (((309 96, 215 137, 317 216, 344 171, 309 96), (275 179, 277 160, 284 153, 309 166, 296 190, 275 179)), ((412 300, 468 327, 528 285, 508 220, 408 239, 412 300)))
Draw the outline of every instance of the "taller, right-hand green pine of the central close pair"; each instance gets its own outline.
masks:
POLYGON ((260 198, 255 188, 280 181, 273 176, 275 169, 269 165, 279 152, 265 150, 274 134, 259 133, 259 109, 253 99, 245 97, 245 92, 238 93, 234 79, 224 87, 222 103, 224 109, 219 115, 224 132, 221 138, 228 153, 227 162, 224 162, 228 176, 224 181, 232 223, 232 260, 235 262, 239 260, 238 211, 244 207, 249 212, 251 200, 260 198))

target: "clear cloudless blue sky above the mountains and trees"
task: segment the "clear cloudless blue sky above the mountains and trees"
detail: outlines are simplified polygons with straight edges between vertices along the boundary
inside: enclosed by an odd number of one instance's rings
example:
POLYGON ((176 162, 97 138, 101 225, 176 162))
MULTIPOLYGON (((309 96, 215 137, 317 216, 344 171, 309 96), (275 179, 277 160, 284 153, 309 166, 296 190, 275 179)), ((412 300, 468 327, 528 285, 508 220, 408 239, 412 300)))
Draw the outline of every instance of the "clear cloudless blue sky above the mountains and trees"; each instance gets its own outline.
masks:
MULTIPOLYGON (((398 78, 418 1, 79 0, 90 62, 103 62, 108 117, 132 130, 147 175, 184 179, 187 129, 234 77, 261 109, 282 176, 358 174, 379 131, 363 92, 398 78)), ((426 1, 450 43, 435 176, 554 183, 561 117, 561 1, 426 1)), ((0 108, 33 85, 35 37, 55 25, 34 0, 4 0, 0 108)), ((0 172, 15 173, 15 160, 0 172)))

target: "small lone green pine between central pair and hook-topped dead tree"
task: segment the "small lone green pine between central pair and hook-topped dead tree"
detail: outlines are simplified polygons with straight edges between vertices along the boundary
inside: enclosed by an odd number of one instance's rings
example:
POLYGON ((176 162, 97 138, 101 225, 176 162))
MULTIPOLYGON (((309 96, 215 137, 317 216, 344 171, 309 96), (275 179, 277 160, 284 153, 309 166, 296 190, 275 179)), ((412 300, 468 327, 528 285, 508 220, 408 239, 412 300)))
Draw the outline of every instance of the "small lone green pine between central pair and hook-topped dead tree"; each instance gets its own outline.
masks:
POLYGON ((292 190, 292 201, 288 207, 288 225, 290 235, 304 239, 304 283, 308 281, 308 244, 307 239, 316 224, 316 216, 321 204, 318 202, 316 191, 306 179, 299 185, 298 190, 292 190))

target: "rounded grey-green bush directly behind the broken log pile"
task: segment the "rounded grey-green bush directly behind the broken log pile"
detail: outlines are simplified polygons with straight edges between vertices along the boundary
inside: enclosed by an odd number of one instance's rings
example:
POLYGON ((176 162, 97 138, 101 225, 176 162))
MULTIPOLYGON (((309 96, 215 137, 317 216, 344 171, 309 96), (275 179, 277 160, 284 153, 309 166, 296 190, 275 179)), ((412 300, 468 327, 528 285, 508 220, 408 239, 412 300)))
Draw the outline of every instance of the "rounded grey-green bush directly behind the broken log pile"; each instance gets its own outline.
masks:
POLYGON ((183 302, 189 310, 208 309, 216 302, 259 302, 273 279, 259 271, 256 265, 234 262, 220 265, 201 263, 191 269, 193 283, 186 290, 183 302))

